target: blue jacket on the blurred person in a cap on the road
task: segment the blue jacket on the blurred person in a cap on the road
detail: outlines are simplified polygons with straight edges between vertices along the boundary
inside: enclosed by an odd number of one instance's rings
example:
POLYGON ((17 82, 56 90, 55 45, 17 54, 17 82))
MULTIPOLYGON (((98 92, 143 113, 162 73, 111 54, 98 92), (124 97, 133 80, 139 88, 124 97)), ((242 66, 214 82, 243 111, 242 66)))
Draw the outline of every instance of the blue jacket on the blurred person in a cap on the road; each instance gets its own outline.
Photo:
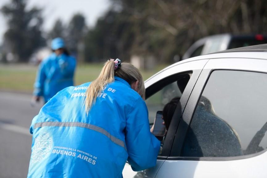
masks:
POLYGON ((34 83, 34 95, 43 96, 45 103, 65 87, 73 86, 75 58, 52 53, 40 65, 34 83))

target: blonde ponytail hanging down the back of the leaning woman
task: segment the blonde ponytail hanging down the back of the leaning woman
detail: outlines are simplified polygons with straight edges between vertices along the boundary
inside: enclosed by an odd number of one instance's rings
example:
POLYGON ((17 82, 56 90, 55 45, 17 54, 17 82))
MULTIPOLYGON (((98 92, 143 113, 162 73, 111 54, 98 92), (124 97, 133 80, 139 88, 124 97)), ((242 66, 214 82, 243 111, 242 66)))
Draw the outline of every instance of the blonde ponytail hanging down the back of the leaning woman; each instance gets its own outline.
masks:
POLYGON ((90 111, 92 105, 95 103, 97 95, 106 84, 114 81, 114 61, 107 61, 102 68, 99 76, 95 79, 86 91, 85 110, 86 113, 90 111))

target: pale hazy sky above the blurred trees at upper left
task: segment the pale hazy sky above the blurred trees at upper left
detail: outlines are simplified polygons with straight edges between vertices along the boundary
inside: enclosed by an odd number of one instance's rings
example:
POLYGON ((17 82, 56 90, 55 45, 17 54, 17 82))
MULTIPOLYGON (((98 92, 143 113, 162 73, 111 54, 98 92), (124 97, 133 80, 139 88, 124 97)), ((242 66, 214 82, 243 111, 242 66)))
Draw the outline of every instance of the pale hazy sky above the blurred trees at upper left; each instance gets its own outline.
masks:
MULTIPOLYGON (((11 0, 0 0, 0 7, 11 0)), ((27 8, 37 6, 43 9, 44 31, 49 31, 60 18, 63 23, 69 22, 75 13, 81 13, 86 18, 86 24, 89 27, 95 25, 98 17, 109 8, 109 0, 28 0, 27 8)), ((2 43, 3 34, 6 31, 6 19, 0 14, 0 43, 2 43)))

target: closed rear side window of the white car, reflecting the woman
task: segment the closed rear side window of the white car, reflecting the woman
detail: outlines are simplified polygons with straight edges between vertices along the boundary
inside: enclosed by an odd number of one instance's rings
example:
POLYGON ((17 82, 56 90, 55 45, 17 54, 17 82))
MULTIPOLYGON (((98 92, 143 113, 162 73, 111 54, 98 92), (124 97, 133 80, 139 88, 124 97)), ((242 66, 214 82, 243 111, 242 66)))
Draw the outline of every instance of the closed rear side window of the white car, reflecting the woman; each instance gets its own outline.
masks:
POLYGON ((267 74, 215 70, 198 101, 181 156, 228 157, 267 148, 267 74))

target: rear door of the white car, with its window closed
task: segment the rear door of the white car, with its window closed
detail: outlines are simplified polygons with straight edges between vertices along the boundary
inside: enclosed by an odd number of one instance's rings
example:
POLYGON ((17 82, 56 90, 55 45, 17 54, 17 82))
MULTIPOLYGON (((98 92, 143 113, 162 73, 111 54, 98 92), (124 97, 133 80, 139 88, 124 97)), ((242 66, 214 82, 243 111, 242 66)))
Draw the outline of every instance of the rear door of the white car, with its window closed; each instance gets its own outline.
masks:
POLYGON ((248 58, 207 62, 156 177, 267 177, 266 66, 248 58))

